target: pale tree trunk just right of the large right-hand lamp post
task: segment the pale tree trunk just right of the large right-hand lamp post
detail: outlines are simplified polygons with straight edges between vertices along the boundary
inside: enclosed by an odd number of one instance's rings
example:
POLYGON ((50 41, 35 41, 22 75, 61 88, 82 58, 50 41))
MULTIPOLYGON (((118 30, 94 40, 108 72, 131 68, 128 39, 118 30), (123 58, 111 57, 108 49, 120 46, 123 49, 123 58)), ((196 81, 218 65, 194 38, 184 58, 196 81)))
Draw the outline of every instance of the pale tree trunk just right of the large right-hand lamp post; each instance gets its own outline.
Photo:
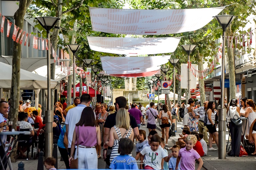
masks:
MULTIPOLYGON (((227 29, 227 36, 233 36, 233 32, 230 29, 227 29)), ((234 64, 234 52, 233 52, 231 40, 228 39, 227 42, 229 44, 229 48, 227 48, 227 61, 228 61, 228 75, 229 75, 229 91, 230 91, 230 100, 231 100, 236 98, 235 64, 234 64)))

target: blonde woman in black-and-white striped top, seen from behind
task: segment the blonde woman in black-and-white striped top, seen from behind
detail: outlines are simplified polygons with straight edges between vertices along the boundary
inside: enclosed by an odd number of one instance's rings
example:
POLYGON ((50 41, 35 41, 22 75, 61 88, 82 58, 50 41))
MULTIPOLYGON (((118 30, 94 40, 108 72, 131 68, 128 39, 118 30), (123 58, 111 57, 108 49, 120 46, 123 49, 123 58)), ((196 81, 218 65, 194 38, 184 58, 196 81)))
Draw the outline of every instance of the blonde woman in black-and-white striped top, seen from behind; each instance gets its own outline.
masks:
POLYGON ((120 108, 117 111, 116 125, 110 129, 109 141, 103 146, 104 148, 113 147, 110 155, 110 163, 116 156, 120 155, 118 153, 118 147, 121 138, 129 138, 133 140, 133 129, 130 126, 129 113, 125 108, 120 108))

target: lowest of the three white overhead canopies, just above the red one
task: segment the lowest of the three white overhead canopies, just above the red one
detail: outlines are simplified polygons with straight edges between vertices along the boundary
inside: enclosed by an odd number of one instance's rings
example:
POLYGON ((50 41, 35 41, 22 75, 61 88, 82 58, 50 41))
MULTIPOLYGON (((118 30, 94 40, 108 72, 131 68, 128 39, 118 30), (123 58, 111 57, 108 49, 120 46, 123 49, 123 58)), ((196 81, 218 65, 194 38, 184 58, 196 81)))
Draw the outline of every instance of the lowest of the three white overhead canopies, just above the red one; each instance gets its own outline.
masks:
MULTIPOLYGON (((124 71, 136 71, 148 68, 159 69, 162 64, 168 63, 171 56, 149 56, 149 57, 100 57, 102 69, 107 73, 109 71, 124 72, 124 71)), ((147 72, 151 70, 144 70, 147 72)), ((131 73, 131 72, 129 72, 131 73)), ((112 74, 112 73, 108 73, 112 74)), ((117 73, 113 73, 117 74, 117 73)), ((122 74, 122 73, 119 73, 122 74)))

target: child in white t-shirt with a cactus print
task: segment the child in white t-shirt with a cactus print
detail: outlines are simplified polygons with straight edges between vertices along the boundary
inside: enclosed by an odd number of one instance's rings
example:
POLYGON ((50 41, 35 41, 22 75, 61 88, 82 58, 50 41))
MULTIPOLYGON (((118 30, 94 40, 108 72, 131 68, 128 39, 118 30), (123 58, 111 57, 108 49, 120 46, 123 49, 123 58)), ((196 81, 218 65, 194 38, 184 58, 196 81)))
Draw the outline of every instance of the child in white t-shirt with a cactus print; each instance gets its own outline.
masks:
POLYGON ((162 158, 166 162, 169 162, 172 154, 169 155, 164 151, 163 148, 159 147, 161 144, 161 137, 153 135, 150 140, 150 147, 142 149, 135 157, 138 160, 142 155, 145 155, 146 163, 145 169, 161 169, 162 158))

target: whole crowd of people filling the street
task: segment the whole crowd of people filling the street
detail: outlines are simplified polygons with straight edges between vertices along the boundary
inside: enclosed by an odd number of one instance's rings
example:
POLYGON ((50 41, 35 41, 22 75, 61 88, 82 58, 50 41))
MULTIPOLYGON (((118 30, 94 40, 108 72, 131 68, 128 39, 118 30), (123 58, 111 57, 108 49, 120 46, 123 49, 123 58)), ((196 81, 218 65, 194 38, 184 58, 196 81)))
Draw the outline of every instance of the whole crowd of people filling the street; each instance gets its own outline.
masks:
MULTIPOLYGON (((181 107, 176 105, 171 108, 163 104, 160 112, 155 109, 153 102, 147 110, 141 104, 137 108, 135 103, 131 104, 129 109, 124 97, 117 97, 114 106, 96 104, 94 109, 90 102, 90 95, 83 94, 81 98, 76 97, 74 104, 69 107, 63 108, 60 102, 55 104, 54 143, 58 144, 66 169, 73 168, 72 162, 75 159, 78 160, 78 169, 97 169, 98 158, 102 157, 107 169, 194 169, 195 159, 200 169, 203 164, 200 157, 207 155, 208 151, 217 150, 212 144, 216 143, 218 147, 217 117, 220 105, 217 106, 214 101, 204 101, 203 106, 199 106, 195 105, 193 99, 189 99, 187 105, 183 103, 181 107), (184 109, 183 131, 176 145, 168 147, 169 130, 172 124, 176 123, 180 108, 184 109), (145 130, 140 130, 140 127, 145 125, 145 118, 148 137, 145 130), (157 119, 161 134, 156 131, 157 119), (136 155, 132 155, 135 139, 136 155), (167 150, 172 151, 168 154, 167 150), (190 156, 188 153, 191 153, 190 156), (121 161, 124 159, 133 163, 121 161)), ((8 106, 7 102, 0 102, 1 127, 8 121, 8 106)), ((232 139, 231 150, 227 154, 239 156, 243 136, 248 138, 250 143, 256 141, 256 131, 253 129, 256 122, 256 106, 253 100, 247 98, 240 99, 240 105, 237 99, 232 99, 224 106, 227 108, 226 122, 232 139), (248 118, 248 123, 235 123, 234 120, 240 120, 240 117, 248 118)), ((38 151, 44 150, 45 123, 39 116, 42 110, 30 107, 30 101, 26 101, 24 105, 21 101, 19 110, 20 129, 28 129, 31 137, 36 137, 39 141, 38 151)), ((19 156, 26 157, 24 152, 30 146, 31 144, 23 146, 22 142, 19 142, 19 156)), ((256 155, 256 150, 251 155, 256 155)), ((45 160, 45 166, 53 167, 54 161, 52 158, 45 160)))

